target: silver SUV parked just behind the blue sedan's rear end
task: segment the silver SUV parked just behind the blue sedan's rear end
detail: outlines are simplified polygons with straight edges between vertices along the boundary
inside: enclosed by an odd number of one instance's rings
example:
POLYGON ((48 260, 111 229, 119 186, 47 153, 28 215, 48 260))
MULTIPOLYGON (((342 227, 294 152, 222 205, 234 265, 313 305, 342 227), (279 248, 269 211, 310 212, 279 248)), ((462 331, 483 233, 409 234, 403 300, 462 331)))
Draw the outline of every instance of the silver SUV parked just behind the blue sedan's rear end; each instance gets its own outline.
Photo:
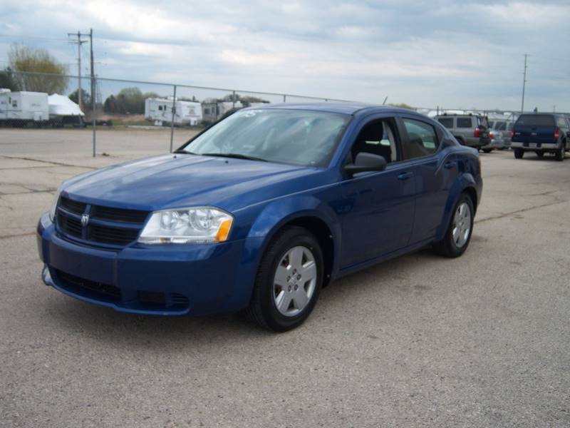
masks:
POLYGON ((480 149, 491 144, 487 119, 484 116, 443 113, 441 116, 435 116, 435 120, 445 126, 463 146, 480 149))

